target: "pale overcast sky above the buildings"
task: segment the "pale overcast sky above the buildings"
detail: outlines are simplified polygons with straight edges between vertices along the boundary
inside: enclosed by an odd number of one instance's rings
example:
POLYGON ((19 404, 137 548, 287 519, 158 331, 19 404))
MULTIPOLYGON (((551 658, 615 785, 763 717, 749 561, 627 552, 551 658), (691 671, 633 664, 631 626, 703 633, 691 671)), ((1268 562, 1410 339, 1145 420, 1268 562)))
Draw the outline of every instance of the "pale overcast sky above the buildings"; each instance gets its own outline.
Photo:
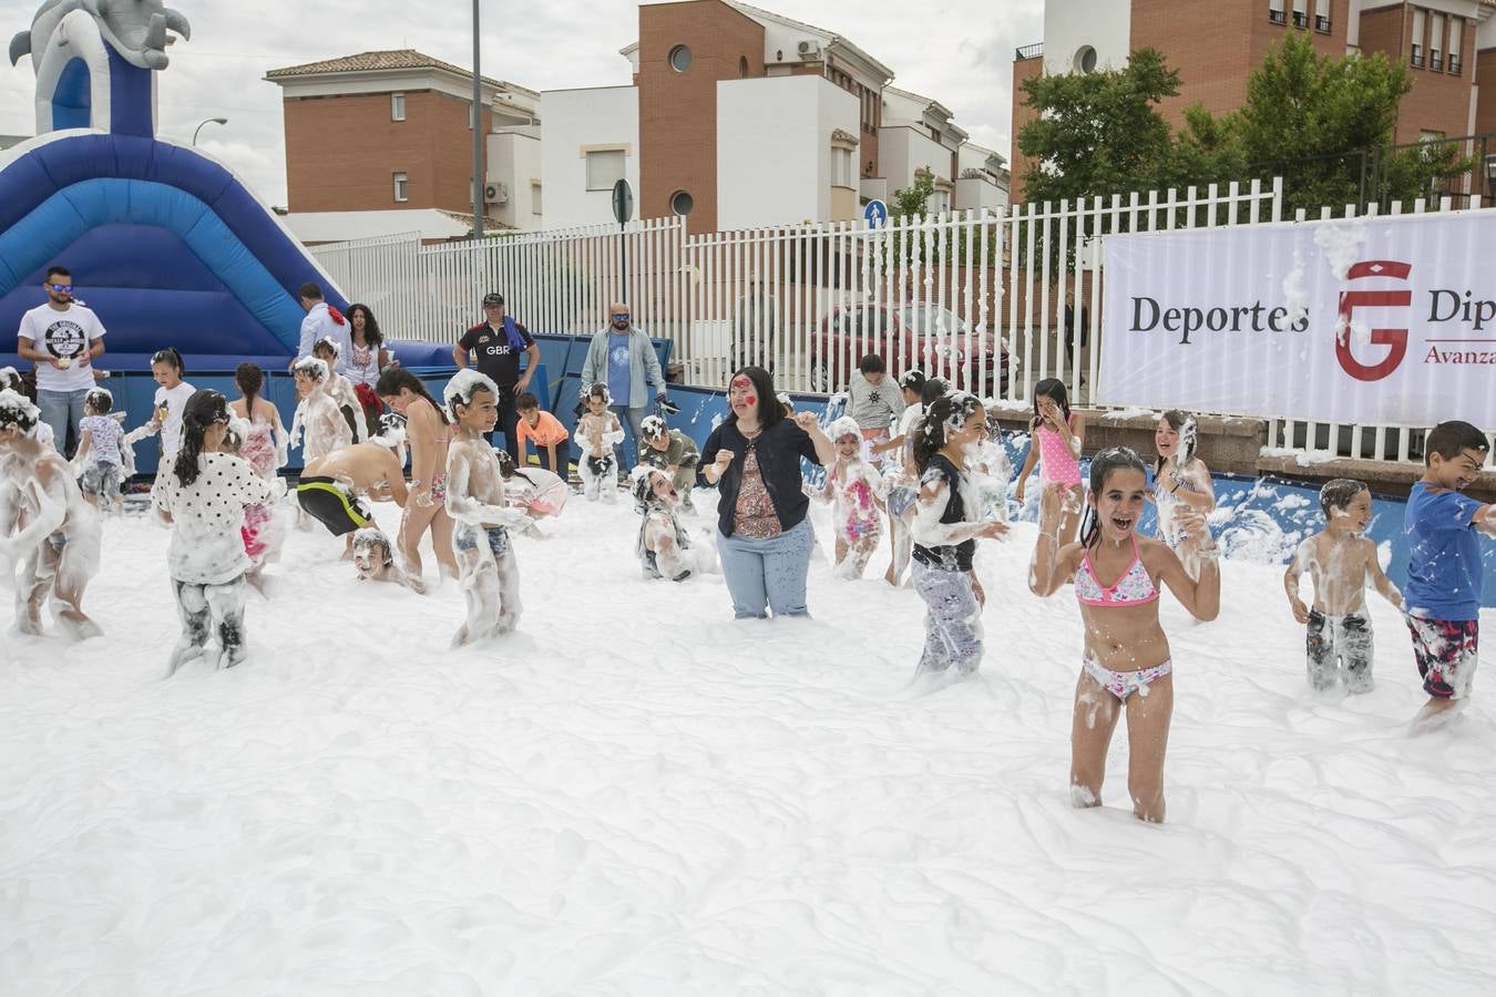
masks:
MULTIPOLYGON (((40 3, 0 0, 0 40, 31 25, 40 3)), ((893 67, 895 85, 950 108, 971 139, 1008 155, 1013 49, 1043 37, 1043 0, 760 0, 776 13, 848 37, 893 67)), ((370 49, 414 48, 467 67, 473 61, 467 3, 364 0, 181 0, 191 40, 171 48, 162 73, 160 135, 191 138, 235 169, 263 200, 286 203, 280 87, 266 70, 370 49), (450 13, 435 15, 440 6, 450 13)), ((618 49, 639 33, 628 0, 483 0, 483 73, 533 90, 628 82, 618 49)), ((0 60, 0 133, 34 132, 31 60, 0 60)), ((355 135, 329 142, 358 143, 355 135)))

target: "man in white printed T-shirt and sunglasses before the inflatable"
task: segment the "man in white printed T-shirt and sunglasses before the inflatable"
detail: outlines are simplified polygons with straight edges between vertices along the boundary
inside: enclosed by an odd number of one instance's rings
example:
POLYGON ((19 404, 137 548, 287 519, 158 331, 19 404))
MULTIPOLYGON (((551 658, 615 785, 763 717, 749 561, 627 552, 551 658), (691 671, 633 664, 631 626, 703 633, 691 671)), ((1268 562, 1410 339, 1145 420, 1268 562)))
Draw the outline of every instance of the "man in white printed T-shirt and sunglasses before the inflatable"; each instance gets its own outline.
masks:
POLYGON ((93 360, 103 356, 103 324, 73 300, 73 275, 66 266, 46 268, 46 302, 21 315, 15 351, 36 363, 36 407, 52 427, 60 453, 69 433, 76 445, 78 420, 94 386, 93 360))

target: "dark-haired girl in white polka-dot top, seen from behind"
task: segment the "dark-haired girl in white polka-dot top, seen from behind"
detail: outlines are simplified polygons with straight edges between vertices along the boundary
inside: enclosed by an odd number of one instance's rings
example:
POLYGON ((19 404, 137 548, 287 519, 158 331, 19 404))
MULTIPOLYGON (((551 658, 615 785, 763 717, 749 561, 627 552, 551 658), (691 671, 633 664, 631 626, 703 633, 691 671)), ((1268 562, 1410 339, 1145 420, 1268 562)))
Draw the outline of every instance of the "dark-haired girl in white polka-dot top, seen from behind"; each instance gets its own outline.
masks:
POLYGON ((169 676, 203 653, 211 631, 218 635, 218 667, 232 668, 245 655, 244 575, 253 565, 241 532, 244 510, 274 495, 248 460, 226 451, 229 419, 223 395, 193 392, 183 410, 181 448, 151 495, 162 522, 172 526, 166 561, 183 622, 169 676))

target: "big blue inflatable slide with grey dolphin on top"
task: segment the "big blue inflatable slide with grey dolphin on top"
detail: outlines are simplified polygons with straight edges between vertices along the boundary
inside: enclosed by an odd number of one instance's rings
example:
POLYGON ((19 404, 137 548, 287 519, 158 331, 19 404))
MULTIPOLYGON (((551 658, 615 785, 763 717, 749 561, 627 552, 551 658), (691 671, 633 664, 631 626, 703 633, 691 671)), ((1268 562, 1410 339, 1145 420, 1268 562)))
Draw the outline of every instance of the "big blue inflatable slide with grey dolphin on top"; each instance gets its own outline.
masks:
POLYGON ((103 368, 141 371, 171 345, 190 371, 284 369, 298 288, 347 300, 232 172, 156 138, 168 31, 190 34, 160 0, 48 0, 10 42, 36 69, 37 138, 0 152, 0 329, 46 300, 61 263, 108 330, 103 368))

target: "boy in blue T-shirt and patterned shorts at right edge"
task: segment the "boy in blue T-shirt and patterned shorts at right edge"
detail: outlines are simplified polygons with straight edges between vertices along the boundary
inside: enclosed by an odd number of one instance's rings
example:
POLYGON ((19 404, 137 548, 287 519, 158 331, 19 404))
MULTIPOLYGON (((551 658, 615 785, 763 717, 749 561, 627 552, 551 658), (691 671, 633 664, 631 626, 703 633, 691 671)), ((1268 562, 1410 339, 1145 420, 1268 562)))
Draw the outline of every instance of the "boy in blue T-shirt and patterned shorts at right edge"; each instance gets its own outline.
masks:
POLYGON ((1426 734, 1469 701, 1480 662, 1481 544, 1496 537, 1496 505, 1463 495, 1490 456, 1486 433, 1465 422, 1439 423, 1423 444, 1423 477, 1408 495, 1408 587, 1403 614, 1414 661, 1429 694, 1411 732, 1426 734))

